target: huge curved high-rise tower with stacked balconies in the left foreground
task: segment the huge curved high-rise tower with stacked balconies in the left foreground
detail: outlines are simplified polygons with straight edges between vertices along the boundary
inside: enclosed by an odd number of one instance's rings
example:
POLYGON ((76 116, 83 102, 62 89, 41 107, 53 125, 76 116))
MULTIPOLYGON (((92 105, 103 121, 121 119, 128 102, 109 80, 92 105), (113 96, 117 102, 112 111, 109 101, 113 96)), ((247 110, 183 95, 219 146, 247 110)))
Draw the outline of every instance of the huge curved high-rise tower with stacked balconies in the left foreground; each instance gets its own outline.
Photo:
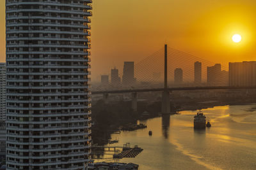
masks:
POLYGON ((85 169, 92 0, 6 0, 6 168, 85 169))

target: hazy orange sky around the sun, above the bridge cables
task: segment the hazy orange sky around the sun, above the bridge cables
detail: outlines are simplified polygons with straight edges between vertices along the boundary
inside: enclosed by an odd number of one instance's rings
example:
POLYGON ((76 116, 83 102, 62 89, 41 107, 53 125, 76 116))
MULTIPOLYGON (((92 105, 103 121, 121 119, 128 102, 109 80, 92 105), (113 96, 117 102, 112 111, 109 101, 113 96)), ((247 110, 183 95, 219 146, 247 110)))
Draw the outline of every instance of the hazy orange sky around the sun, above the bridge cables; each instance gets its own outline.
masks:
MULTIPOLYGON (((0 0, 1 62, 5 60, 0 0)), ((255 0, 93 0, 92 78, 169 46, 227 66, 255 60, 255 0), (232 35, 241 34, 241 43, 232 35)))

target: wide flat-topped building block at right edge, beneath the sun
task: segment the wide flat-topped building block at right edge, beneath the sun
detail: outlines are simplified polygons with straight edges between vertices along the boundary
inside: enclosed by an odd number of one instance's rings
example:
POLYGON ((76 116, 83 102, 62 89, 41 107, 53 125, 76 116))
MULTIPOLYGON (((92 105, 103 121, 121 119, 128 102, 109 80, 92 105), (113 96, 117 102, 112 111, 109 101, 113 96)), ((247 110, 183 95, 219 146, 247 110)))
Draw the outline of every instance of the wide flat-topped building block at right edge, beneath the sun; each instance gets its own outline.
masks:
POLYGON ((230 62, 228 72, 230 86, 256 85, 256 61, 230 62))

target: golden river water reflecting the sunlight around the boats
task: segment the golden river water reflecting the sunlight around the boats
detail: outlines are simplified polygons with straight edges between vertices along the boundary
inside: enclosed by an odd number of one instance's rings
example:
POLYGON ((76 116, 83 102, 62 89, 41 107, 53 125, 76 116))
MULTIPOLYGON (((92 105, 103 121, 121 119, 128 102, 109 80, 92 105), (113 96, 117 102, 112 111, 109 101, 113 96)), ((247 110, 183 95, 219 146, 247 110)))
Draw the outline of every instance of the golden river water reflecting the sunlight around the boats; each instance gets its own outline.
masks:
MULTIPOLYGON (((216 106, 202 110, 212 127, 193 129, 196 111, 152 118, 138 123, 147 129, 113 134, 112 146, 131 143, 143 148, 136 158, 120 162, 139 169, 256 169, 256 104, 216 106), (152 131, 152 136, 148 136, 152 131)), ((113 162, 111 155, 96 162, 113 162)))

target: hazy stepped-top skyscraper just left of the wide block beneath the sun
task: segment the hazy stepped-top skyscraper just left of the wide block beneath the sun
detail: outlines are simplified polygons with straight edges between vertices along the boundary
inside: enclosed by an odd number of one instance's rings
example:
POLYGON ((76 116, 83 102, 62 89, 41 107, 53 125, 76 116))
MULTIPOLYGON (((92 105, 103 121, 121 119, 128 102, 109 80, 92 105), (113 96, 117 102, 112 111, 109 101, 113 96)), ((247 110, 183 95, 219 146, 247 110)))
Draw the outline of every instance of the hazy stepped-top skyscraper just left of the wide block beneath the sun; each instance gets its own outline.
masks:
POLYGON ((221 64, 207 67, 207 83, 209 85, 218 85, 221 80, 221 64))

